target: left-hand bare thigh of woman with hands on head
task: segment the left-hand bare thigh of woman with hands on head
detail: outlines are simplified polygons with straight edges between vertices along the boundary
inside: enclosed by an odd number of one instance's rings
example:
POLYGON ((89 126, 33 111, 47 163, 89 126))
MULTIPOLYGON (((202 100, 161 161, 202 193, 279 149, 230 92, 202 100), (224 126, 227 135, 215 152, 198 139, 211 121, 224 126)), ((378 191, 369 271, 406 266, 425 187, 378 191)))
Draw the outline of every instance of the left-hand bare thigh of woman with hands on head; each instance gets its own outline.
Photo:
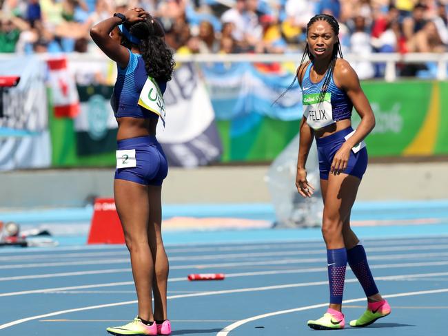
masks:
POLYGON ((147 186, 128 180, 114 180, 116 211, 126 236, 146 240, 149 202, 147 186))

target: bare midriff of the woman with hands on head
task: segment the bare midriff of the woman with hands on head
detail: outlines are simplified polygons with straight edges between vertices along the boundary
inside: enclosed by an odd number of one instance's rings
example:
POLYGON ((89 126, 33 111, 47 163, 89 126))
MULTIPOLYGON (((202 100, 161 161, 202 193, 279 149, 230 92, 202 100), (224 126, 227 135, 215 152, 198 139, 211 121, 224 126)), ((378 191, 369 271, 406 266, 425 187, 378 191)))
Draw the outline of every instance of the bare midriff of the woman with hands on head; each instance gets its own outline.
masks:
POLYGON ((156 126, 159 119, 124 116, 116 118, 116 121, 119 123, 116 140, 125 140, 139 136, 156 136, 156 126))

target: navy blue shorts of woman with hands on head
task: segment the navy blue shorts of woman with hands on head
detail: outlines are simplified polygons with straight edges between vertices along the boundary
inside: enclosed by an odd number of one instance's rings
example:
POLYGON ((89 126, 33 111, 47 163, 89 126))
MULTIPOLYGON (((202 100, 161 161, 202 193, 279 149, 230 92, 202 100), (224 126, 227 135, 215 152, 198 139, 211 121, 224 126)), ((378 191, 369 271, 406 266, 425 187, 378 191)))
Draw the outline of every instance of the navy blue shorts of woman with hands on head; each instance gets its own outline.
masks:
POLYGON ((162 185, 168 174, 168 164, 163 149, 155 136, 139 136, 117 141, 118 149, 135 149, 136 167, 119 168, 115 179, 162 185))

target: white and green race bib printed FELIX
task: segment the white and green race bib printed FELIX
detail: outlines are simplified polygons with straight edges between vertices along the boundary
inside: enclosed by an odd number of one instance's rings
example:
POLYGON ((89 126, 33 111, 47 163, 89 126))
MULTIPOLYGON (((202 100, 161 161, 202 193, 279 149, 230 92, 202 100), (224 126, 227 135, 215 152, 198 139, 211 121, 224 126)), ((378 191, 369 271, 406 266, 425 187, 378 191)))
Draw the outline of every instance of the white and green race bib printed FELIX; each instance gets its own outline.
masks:
POLYGON ((327 92, 321 103, 318 102, 319 96, 320 94, 304 94, 302 98, 303 115, 312 129, 320 129, 334 123, 332 94, 327 92))

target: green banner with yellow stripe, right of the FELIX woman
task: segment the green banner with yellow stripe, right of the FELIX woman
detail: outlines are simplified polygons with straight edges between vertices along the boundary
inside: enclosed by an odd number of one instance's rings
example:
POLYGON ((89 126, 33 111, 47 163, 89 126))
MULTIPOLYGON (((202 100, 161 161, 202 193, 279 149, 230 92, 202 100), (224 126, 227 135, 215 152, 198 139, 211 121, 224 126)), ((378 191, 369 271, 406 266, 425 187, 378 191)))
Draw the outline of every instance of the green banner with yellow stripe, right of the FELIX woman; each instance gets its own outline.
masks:
MULTIPOLYGON (((376 118, 365 142, 370 156, 448 154, 448 83, 438 81, 364 82, 376 118), (445 93, 445 94, 444 94, 445 93)), ((355 109, 354 127, 360 122, 355 109)))

